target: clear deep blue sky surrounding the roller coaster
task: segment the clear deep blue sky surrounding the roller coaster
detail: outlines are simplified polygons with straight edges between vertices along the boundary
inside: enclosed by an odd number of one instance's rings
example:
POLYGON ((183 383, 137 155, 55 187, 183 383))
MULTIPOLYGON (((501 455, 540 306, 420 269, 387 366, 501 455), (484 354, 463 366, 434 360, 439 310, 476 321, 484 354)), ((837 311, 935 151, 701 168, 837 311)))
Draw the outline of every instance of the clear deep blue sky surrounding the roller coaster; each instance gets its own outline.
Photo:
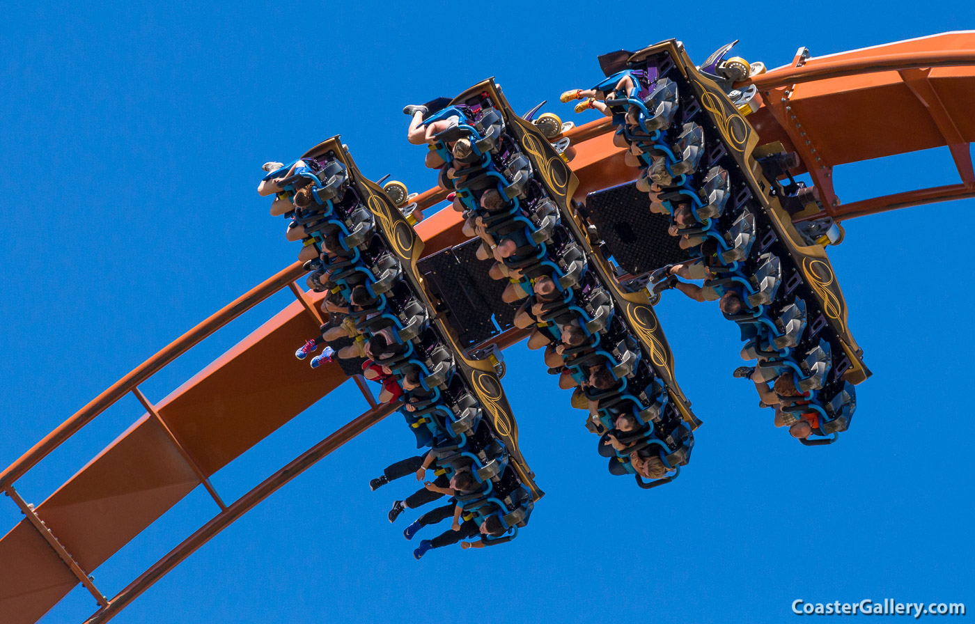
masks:
MULTIPOLYGON (((962 3, 628 9, 458 5, 14 2, 0 24, 0 466, 217 308, 292 262, 286 222, 254 192, 267 160, 341 134, 364 172, 411 190, 434 176, 404 104, 496 76, 516 110, 601 77, 596 56, 681 39, 704 59, 739 38, 769 66, 971 27, 962 3), (712 15, 683 23, 678 16, 712 15), (512 19, 519 16, 518 20, 512 19), (474 28, 477 46, 460 47, 474 28)), ((575 119, 568 105, 550 110, 575 119)), ((844 201, 956 181, 947 150, 839 168, 844 201)), ((975 606, 968 353, 971 254, 945 235, 975 202, 847 222, 831 250, 874 376, 839 445, 771 425, 717 306, 668 293, 658 313, 705 425, 674 485, 611 478, 584 414, 538 353, 506 352, 524 453, 548 495, 506 547, 410 556, 385 514, 408 455, 399 418, 303 474, 128 607, 120 623, 186 621, 779 622, 790 604, 894 598, 975 606), (934 217, 932 219, 932 216, 934 217), (968 450, 965 450, 965 449, 968 450), (473 616, 471 616, 473 617, 473 616)), ((962 244, 959 244, 962 243, 962 244)), ((158 401, 290 302, 254 309, 142 386, 158 401)), ((294 348, 286 345, 283 348, 294 348)), ((348 388, 217 473, 225 499, 358 413, 348 388)), ((28 476, 39 502, 141 413, 127 398, 28 476)), ((98 570, 115 593, 216 511, 194 491, 98 570)), ((0 499, 0 533, 20 513, 0 499)), ((434 534, 431 531, 431 534, 434 534)), ((428 535, 429 536, 429 535, 428 535)), ((10 565, 8 562, 0 565, 10 565)), ((95 609, 78 589, 46 623, 95 609)), ((879 618, 883 619, 883 618, 879 618)))

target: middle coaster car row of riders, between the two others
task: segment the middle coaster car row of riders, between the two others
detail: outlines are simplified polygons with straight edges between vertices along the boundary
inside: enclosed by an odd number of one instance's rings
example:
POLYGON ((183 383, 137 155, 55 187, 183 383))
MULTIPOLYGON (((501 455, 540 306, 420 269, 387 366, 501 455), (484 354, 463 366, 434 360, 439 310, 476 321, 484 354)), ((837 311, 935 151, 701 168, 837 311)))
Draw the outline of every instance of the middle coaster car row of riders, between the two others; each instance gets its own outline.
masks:
POLYGON ((669 483, 689 460, 698 423, 652 309, 639 296, 618 299, 624 293, 592 250, 572 205, 566 142, 539 128, 551 117, 519 118, 490 80, 431 108, 407 107, 409 136, 422 133, 426 163, 466 217, 465 233, 482 240, 478 257, 508 282, 502 298, 518 306, 515 324, 534 328, 529 348, 545 348, 550 372, 575 388, 572 405, 589 409, 611 474, 633 474, 644 488, 669 483))

